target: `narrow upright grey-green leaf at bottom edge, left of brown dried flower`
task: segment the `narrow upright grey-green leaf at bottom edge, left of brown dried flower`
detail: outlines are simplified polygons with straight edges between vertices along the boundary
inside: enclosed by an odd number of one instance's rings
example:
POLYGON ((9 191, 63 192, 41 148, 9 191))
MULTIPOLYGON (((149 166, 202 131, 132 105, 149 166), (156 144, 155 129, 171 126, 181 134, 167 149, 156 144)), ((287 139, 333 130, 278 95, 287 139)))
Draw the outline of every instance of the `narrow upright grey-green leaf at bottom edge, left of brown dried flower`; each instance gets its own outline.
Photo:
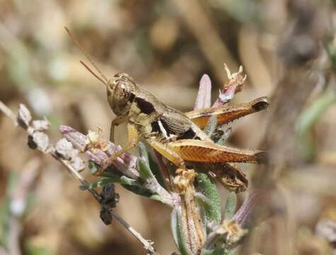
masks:
POLYGON ((191 255, 192 252, 185 242, 185 232, 181 220, 181 213, 178 208, 174 208, 170 215, 170 227, 173 239, 181 255, 191 255))

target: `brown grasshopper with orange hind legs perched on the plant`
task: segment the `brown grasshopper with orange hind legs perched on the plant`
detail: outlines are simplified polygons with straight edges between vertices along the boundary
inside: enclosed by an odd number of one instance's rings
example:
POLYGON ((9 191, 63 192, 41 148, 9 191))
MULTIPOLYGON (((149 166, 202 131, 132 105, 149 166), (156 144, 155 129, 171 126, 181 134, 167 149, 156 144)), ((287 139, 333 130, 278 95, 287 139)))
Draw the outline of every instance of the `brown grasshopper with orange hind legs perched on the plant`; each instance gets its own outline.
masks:
MULTIPOLYGON (((128 143, 112 155, 106 165, 112 164, 117 157, 137 146, 139 138, 142 137, 159 154, 177 166, 177 173, 187 169, 187 166, 198 164, 219 176, 232 190, 242 191, 245 188, 247 180, 231 162, 260 163, 265 160, 265 152, 217 145, 202 131, 202 128, 213 115, 217 116, 217 124, 222 125, 244 115, 264 110, 268 106, 266 97, 236 106, 203 108, 182 113, 137 86, 128 74, 120 72, 112 79, 107 79, 67 28, 66 31, 100 76, 84 62, 80 61, 81 64, 107 89, 108 103, 113 113, 117 115, 111 122, 111 142, 114 142, 115 127, 127 122, 128 143), (221 175, 221 170, 231 174, 231 177, 221 175), (228 178, 231 178, 231 181, 228 181, 228 178), (237 183, 237 179, 243 184, 237 183)), ((99 169, 95 175, 99 176, 104 170, 99 169)))

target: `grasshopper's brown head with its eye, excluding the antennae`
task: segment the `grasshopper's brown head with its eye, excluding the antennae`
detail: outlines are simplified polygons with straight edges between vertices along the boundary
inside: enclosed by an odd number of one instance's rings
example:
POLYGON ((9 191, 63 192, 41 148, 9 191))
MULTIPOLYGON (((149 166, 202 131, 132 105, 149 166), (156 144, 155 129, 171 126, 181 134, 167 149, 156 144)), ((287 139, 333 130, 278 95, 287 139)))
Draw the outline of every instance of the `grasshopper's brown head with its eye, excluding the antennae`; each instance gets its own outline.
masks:
POLYGON ((137 89, 134 80, 125 73, 117 73, 108 82, 108 103, 116 115, 128 113, 137 89))

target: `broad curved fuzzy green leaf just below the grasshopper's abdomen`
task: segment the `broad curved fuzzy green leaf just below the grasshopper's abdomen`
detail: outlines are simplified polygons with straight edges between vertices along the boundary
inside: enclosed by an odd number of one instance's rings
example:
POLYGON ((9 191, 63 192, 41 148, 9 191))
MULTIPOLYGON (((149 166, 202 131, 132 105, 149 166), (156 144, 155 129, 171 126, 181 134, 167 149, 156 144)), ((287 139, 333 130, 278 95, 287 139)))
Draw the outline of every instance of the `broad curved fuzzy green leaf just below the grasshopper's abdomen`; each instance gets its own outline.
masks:
POLYGON ((198 173, 195 179, 197 191, 209 199, 204 200, 204 214, 207 222, 221 223, 221 198, 215 183, 204 173, 198 173))

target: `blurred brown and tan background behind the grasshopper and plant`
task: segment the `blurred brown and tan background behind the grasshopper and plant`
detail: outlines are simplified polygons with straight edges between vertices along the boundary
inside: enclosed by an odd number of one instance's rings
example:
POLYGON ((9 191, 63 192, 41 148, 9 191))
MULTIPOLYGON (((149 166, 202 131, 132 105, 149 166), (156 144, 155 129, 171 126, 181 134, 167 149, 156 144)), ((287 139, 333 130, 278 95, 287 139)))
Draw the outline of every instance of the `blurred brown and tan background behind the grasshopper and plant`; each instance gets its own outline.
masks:
MULTIPOLYGON (((308 0, 0 0, 0 100, 46 116, 52 142, 61 124, 84 133, 100 126, 108 137, 105 89, 79 64, 84 57, 64 26, 108 77, 127 72, 181 111, 192 110, 202 74, 212 78, 216 98, 227 79, 224 63, 232 72, 242 64, 248 79, 233 103, 271 96, 272 106, 234 122, 229 143, 270 150, 271 164, 242 167, 253 186, 274 193, 270 208, 277 209, 243 254, 331 254, 332 242, 315 228, 336 221, 334 11, 332 1, 308 0)), ((124 145, 124 126, 116 137, 124 145)), ((59 163, 26 143, 0 115, 2 246, 17 231, 13 254, 144 254, 118 222, 103 225, 95 200, 59 163), (28 208, 13 226, 8 208, 20 210, 11 202, 20 201, 18 183, 26 179, 28 208)), ((161 254, 175 251, 170 209, 117 191, 117 212, 161 254)))

